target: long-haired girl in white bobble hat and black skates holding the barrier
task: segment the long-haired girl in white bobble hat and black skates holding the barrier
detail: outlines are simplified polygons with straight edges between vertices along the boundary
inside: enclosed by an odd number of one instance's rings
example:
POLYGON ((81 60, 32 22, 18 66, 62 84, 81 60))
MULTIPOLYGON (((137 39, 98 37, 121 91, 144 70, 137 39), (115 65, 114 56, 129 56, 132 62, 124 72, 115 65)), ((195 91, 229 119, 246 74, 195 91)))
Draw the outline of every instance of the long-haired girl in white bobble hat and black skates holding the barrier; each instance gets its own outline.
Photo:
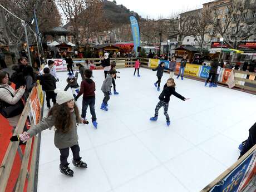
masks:
POLYGON ((29 137, 55 126, 54 143, 60 150, 60 171, 67 176, 73 176, 73 170, 68 166, 67 161, 69 151, 73 153, 72 163, 78 168, 87 168, 87 164, 80 157, 80 147, 78 145, 77 124, 83 123, 79 111, 74 103, 71 93, 55 90, 57 93, 57 104, 48 113, 48 116, 37 125, 31 127, 27 132, 18 136, 12 136, 11 141, 26 142, 29 137))

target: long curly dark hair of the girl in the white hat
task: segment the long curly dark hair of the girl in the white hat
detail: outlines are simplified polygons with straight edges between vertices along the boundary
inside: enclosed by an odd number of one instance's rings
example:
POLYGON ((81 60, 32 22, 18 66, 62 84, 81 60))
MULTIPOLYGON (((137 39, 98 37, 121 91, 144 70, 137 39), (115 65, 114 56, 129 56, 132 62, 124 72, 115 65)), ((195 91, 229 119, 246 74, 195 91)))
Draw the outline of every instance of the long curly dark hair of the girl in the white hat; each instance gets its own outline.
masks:
MULTIPOLYGON (((80 122, 81 118, 80 118, 78 107, 76 106, 76 104, 74 104, 74 109, 76 114, 76 122, 80 122)), ((73 129, 72 115, 66 102, 61 105, 55 104, 51 108, 51 110, 48 112, 48 116, 51 116, 51 115, 55 119, 55 129, 57 131, 66 133, 71 129, 73 129)))

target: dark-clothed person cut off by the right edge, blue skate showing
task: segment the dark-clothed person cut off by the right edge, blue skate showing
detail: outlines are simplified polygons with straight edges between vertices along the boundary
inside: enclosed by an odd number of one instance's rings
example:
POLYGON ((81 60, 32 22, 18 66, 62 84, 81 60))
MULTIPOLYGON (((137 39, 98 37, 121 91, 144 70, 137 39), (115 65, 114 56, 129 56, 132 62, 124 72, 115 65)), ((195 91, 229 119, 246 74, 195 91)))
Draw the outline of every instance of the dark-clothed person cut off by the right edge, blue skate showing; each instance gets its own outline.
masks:
POLYGON ((249 137, 247 140, 243 141, 242 144, 239 145, 238 149, 241 150, 240 157, 242 157, 247 151, 250 150, 256 144, 256 122, 249 129, 249 137))

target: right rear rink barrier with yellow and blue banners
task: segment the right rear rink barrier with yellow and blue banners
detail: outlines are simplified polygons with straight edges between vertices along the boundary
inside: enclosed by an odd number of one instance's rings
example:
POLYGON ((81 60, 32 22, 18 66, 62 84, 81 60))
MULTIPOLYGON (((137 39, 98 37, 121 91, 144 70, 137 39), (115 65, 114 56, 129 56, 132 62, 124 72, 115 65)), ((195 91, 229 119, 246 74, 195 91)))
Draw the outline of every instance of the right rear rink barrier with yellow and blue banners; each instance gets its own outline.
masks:
MULTIPOLYGON (((165 66, 169 68, 168 61, 156 60, 150 58, 140 58, 141 66, 145 68, 155 68, 161 61, 165 62, 165 66)), ((175 74, 178 75, 180 63, 178 62, 175 69, 175 74)), ((187 63, 184 70, 184 77, 193 78, 195 80, 205 81, 208 78, 210 71, 209 66, 201 66, 196 64, 187 63)), ((218 83, 227 85, 227 80, 231 73, 234 73, 235 88, 238 90, 246 90, 250 93, 256 93, 256 73, 232 70, 230 68, 221 68, 218 77, 218 83)), ((168 72, 165 70, 165 72, 168 72)))

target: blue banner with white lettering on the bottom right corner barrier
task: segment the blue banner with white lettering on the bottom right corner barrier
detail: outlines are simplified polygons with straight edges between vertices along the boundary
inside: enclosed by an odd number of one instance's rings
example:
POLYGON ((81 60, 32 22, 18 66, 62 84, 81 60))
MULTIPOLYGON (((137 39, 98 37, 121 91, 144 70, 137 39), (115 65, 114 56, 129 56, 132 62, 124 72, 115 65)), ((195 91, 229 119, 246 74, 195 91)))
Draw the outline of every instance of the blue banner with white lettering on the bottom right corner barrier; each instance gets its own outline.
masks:
POLYGON ((215 185, 210 192, 239 192, 248 183, 255 169, 256 151, 250 154, 237 168, 215 185))

